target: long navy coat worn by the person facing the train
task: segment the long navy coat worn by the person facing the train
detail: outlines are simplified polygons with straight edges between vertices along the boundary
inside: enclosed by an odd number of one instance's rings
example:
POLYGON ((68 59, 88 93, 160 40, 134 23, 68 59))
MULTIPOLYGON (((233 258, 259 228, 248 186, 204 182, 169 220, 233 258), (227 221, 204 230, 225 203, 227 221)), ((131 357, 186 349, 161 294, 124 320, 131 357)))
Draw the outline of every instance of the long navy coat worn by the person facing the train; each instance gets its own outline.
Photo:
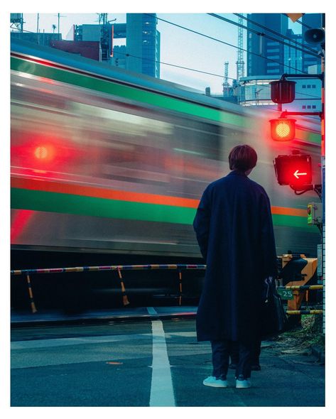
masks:
POLYGON ((269 197, 244 173, 207 186, 193 223, 207 263, 197 340, 256 338, 264 278, 276 275, 269 197))

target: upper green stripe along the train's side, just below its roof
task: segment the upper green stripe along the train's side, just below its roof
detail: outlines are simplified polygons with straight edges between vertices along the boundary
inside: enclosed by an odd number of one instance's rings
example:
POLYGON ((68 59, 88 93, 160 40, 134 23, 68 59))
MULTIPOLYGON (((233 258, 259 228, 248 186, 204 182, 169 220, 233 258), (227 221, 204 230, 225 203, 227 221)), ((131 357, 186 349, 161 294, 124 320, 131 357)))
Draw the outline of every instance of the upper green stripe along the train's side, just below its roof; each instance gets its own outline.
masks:
POLYGON ((46 77, 51 80, 58 80, 59 82, 68 83, 70 85, 85 87, 86 89, 92 89, 98 92, 114 94, 126 99, 145 102, 164 109, 200 116, 201 118, 211 119, 212 121, 222 122, 224 124, 248 127, 252 122, 251 118, 247 118, 246 116, 205 107, 200 104, 193 104, 181 99, 168 97, 165 94, 147 92, 146 90, 138 89, 136 87, 120 85, 119 83, 112 81, 99 80, 96 77, 81 75, 68 70, 60 70, 55 67, 22 60, 21 58, 11 57, 11 69, 39 77, 46 77))

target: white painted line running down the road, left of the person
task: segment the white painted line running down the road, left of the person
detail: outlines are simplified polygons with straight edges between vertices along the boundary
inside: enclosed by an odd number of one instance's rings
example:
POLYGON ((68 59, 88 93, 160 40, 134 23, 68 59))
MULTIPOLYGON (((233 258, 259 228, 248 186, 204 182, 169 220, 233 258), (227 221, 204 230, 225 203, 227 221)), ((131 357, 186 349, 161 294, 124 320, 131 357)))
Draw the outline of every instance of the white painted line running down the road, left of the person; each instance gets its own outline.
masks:
MULTIPOLYGON (((147 308, 150 314, 156 312, 147 308)), ((153 364, 149 406, 176 406, 167 353, 166 337, 161 320, 152 321, 153 364)))

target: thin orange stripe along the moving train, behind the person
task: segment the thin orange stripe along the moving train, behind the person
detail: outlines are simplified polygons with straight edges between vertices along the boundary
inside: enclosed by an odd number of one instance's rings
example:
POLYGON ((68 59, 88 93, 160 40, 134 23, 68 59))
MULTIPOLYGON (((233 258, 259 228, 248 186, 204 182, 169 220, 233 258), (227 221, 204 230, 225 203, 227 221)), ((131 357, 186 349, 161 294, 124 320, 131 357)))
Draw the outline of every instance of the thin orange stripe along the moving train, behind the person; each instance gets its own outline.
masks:
MULTIPOLYGON (((45 192, 67 193, 72 195, 83 195, 88 197, 105 198, 109 200, 143 202, 146 204, 170 205, 173 207, 197 208, 199 200, 190 198, 170 197, 167 195, 154 195, 141 192, 127 192, 121 190, 103 189, 86 185, 70 185, 49 180, 25 179, 11 177, 11 187, 18 187, 29 190, 43 190, 45 192)), ((307 217, 306 209, 271 207, 272 214, 292 215, 296 217, 307 217)))

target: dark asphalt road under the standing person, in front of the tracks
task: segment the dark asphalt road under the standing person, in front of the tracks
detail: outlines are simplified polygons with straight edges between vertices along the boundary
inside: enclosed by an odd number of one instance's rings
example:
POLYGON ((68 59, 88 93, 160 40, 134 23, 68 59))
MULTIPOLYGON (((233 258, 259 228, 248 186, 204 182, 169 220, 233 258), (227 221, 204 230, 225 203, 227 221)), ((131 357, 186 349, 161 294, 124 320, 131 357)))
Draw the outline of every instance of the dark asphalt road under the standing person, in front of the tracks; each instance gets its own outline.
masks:
POLYGON ((195 320, 153 317, 11 331, 11 406, 325 406, 324 366, 263 342, 253 387, 210 388, 210 342, 195 320))

